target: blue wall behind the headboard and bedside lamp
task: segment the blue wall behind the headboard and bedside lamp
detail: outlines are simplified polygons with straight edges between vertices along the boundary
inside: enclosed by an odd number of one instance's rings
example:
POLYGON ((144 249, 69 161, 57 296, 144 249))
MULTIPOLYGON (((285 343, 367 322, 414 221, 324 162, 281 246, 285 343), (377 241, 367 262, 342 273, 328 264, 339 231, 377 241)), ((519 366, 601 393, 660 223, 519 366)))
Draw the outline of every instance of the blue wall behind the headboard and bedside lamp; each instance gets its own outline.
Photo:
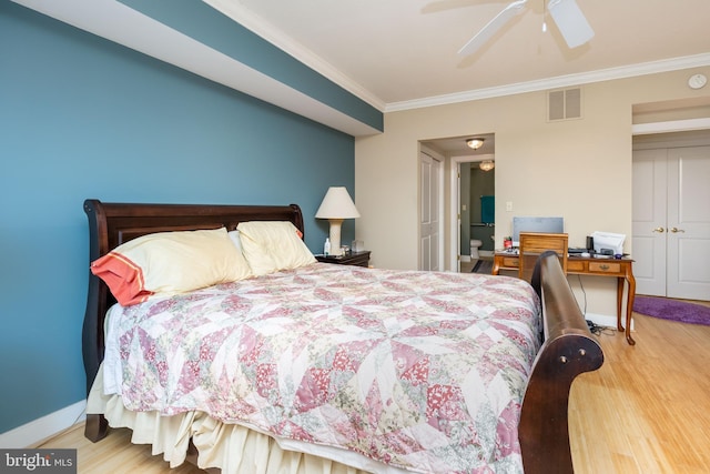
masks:
POLYGON ((85 396, 84 199, 297 203, 317 252, 329 185, 352 137, 0 1, 0 433, 85 396))

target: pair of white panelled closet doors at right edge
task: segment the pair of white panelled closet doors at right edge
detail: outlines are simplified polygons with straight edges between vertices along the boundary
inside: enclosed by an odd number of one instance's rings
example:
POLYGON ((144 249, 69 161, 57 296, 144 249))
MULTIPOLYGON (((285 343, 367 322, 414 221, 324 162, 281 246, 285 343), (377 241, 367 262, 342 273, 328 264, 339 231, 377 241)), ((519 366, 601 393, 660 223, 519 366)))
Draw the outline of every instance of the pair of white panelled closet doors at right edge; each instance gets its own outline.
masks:
POLYGON ((710 300, 710 147, 633 152, 640 294, 710 300))

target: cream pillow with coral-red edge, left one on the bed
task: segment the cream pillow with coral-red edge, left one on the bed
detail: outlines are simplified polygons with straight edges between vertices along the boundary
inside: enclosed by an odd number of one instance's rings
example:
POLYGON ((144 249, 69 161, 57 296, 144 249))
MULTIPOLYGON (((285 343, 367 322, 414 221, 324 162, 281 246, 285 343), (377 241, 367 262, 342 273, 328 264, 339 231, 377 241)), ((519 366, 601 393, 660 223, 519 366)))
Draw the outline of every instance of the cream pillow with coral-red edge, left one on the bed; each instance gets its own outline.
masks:
POLYGON ((91 272, 123 306, 252 275, 224 228, 143 235, 97 259, 91 272))

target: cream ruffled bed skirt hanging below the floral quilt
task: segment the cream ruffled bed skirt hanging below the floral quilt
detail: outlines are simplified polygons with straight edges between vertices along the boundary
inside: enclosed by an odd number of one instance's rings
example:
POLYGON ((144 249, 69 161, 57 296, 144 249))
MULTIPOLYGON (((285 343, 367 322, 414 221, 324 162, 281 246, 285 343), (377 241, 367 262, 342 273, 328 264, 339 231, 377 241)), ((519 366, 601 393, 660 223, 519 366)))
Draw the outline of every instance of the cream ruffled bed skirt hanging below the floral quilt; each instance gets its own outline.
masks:
POLYGON ((365 474, 367 472, 403 473, 356 453, 328 446, 315 446, 275 438, 244 426, 225 424, 203 412, 161 416, 158 412, 132 412, 120 395, 103 395, 103 367, 87 402, 88 414, 103 414, 109 426, 133 431, 131 442, 152 445, 152 454, 163 454, 171 467, 185 462, 190 440, 197 448, 197 466, 219 468, 224 474, 365 474), (286 448, 290 444, 292 451, 286 448), (301 450, 301 451, 297 451, 301 450), (302 451, 325 453, 306 454, 302 451), (333 458, 341 462, 332 461, 333 458), (352 465, 359 466, 352 467, 352 465))

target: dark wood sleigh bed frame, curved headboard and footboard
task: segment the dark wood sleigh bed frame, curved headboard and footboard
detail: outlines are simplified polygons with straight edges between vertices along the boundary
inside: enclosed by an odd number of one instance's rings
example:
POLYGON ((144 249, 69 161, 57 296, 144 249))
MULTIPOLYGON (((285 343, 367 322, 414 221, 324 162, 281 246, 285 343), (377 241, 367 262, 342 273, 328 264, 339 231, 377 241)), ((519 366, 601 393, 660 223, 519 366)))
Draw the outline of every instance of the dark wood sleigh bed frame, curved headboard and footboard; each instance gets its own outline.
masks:
MULTIPOLYGON (((303 232, 303 215, 291 205, 205 205, 102 203, 87 200, 90 262, 123 242, 165 231, 216 229, 233 230, 245 221, 291 221, 303 232)), ((604 363, 604 354, 562 272, 556 254, 542 255, 536 268, 534 286, 541 297, 545 341, 532 366, 521 409, 518 435, 526 474, 571 473, 568 401, 571 383, 584 372, 604 363)), ((103 322, 114 303, 108 286, 89 272, 87 312, 83 323, 83 360, 87 393, 103 360, 103 322)), ((103 415, 87 415, 85 436, 105 436, 103 415)))

